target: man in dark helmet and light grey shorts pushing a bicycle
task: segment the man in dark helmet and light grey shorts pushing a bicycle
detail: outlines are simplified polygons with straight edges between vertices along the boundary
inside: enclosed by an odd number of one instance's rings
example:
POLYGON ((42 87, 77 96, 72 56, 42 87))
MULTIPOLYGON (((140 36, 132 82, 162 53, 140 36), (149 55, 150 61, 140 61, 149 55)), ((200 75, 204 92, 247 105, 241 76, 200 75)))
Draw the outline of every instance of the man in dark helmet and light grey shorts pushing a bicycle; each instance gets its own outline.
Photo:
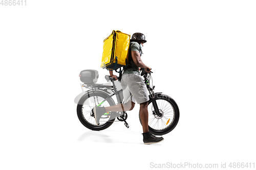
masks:
MULTIPOLYGON (((158 143, 163 140, 163 137, 156 137, 148 130, 148 92, 142 76, 139 74, 139 67, 144 68, 147 72, 151 68, 146 66, 141 60, 143 44, 146 42, 145 36, 142 33, 134 33, 129 48, 129 63, 123 69, 121 86, 123 88, 124 104, 118 104, 111 107, 94 107, 94 117, 96 124, 99 125, 100 117, 109 111, 127 111, 132 110, 135 102, 140 104, 140 119, 143 128, 144 144, 158 143)), ((110 76, 117 80, 116 75, 113 75, 113 70, 110 70, 110 76)))

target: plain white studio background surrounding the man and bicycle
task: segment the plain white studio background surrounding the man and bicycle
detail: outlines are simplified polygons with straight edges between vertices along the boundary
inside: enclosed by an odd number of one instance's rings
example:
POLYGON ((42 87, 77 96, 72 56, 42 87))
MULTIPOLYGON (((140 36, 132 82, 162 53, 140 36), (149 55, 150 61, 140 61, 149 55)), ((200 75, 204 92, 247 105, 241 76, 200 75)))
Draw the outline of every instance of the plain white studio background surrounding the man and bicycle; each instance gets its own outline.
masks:
POLYGON ((1 169, 152 169, 164 163, 255 162, 255 1, 31 1, 0 6, 1 169), (141 32, 156 92, 177 127, 142 142, 127 129, 80 124, 79 72, 97 69, 113 30, 141 32))

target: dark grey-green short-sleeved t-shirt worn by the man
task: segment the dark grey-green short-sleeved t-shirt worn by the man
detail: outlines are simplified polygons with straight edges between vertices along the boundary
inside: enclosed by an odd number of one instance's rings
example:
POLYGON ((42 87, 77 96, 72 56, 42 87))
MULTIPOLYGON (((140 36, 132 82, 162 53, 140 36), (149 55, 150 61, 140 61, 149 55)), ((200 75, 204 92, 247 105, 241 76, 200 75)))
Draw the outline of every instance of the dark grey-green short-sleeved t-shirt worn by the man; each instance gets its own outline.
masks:
POLYGON ((123 73, 127 73, 127 74, 136 73, 136 72, 139 73, 139 67, 136 66, 133 62, 132 51, 137 51, 140 53, 140 45, 138 42, 130 42, 128 65, 123 69, 123 73))

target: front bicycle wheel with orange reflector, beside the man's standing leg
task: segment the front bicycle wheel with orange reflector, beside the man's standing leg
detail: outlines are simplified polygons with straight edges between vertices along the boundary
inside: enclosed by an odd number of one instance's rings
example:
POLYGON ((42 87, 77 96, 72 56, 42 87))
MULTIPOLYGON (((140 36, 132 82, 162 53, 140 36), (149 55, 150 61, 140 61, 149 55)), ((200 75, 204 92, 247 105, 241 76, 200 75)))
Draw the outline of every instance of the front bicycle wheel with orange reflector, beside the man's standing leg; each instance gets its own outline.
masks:
POLYGON ((155 135, 164 135, 172 131, 178 124, 180 117, 179 107, 168 95, 156 94, 155 99, 161 115, 157 115, 152 103, 153 99, 150 99, 147 106, 148 129, 155 135))

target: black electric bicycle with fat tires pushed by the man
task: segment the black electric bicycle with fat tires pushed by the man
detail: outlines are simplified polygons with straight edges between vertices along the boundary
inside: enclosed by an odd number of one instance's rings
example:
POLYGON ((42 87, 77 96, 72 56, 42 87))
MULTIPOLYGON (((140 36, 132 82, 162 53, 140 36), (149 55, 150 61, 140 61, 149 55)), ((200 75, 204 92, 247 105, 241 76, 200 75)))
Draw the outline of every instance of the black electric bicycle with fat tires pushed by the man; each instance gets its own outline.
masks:
MULTIPOLYGON (((164 135, 176 127, 179 122, 180 112, 178 105, 172 98, 170 98, 170 96, 162 94, 162 92, 154 92, 155 86, 151 87, 150 85, 152 73, 152 71, 147 73, 144 69, 140 70, 140 74, 144 78, 144 82, 150 97, 147 106, 148 129, 152 134, 164 135)), ((77 104, 77 116, 83 126, 95 131, 104 130, 110 127, 115 122, 116 117, 119 121, 124 122, 126 128, 129 128, 129 125, 126 122, 126 111, 105 113, 99 120, 99 126, 96 125, 94 114, 92 112, 92 109, 95 106, 114 106, 115 102, 112 99, 112 96, 114 95, 116 95, 118 104, 123 102, 122 89, 117 90, 115 79, 108 75, 105 76, 105 79, 108 82, 111 81, 113 85, 109 86, 94 83, 84 83, 82 85, 83 87, 87 87, 90 90, 86 91, 86 93, 80 98, 77 104), (113 94, 110 95, 108 90, 111 90, 113 94)))

